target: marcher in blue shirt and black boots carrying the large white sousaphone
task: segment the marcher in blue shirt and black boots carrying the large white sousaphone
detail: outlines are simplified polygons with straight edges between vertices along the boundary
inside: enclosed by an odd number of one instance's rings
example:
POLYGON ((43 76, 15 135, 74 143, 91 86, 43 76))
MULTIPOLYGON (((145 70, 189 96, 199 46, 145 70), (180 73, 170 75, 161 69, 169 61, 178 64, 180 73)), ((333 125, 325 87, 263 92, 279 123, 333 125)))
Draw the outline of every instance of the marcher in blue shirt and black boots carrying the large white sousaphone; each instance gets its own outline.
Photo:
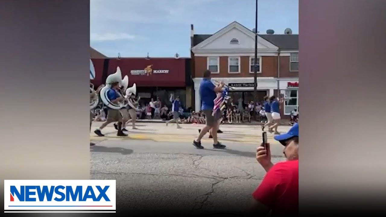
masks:
MULTIPOLYGON (((111 86, 111 88, 109 90, 107 90, 108 100, 110 100, 110 102, 113 104, 118 103, 121 100, 124 100, 124 97, 122 97, 117 92, 117 90, 119 89, 119 83, 118 82, 111 83, 110 86, 111 86)), ((101 131, 103 128, 105 128, 108 124, 110 124, 112 122, 118 122, 117 136, 127 136, 127 134, 125 134, 122 131, 122 115, 120 114, 120 111, 116 110, 116 109, 112 109, 112 108, 108 108, 107 120, 102 125, 100 125, 100 127, 98 129, 96 129, 94 131, 95 134, 97 134, 98 136, 105 136, 102 134, 101 131)))

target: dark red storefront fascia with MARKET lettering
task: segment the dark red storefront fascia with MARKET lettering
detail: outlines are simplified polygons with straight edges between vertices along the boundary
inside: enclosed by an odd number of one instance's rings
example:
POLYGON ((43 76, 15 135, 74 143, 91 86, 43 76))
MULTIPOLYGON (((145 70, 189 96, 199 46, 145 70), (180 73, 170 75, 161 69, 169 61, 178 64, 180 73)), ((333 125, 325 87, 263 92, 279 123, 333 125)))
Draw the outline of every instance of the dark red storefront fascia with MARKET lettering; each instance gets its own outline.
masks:
MULTIPOLYGON (((122 77, 129 76, 129 86, 185 86, 185 58, 122 58, 110 59, 108 75, 119 66, 122 77)), ((97 72, 95 72, 97 74, 97 72)))

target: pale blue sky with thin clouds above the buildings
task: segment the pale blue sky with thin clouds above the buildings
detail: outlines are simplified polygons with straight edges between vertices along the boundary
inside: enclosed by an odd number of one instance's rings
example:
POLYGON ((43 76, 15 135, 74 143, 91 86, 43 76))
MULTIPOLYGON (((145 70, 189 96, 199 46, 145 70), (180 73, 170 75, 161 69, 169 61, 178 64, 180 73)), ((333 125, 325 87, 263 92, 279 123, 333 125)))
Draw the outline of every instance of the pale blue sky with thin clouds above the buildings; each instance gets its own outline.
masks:
MULTIPOLYGON (((190 56, 195 34, 255 27, 255 0, 90 0, 90 45, 108 57, 190 56)), ((259 0, 257 30, 298 34, 298 0, 259 0)))

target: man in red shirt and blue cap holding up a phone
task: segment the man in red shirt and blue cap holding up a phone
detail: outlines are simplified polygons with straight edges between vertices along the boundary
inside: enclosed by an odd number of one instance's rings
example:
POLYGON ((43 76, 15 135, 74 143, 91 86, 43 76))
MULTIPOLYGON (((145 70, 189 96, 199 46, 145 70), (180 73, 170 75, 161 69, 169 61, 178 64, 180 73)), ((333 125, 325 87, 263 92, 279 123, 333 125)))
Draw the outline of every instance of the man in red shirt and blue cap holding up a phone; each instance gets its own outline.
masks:
POLYGON ((287 161, 271 162, 269 144, 257 148, 256 159, 267 171, 260 185, 252 193, 248 214, 251 216, 298 215, 299 206, 299 125, 295 124, 285 134, 274 139, 284 146, 287 161))

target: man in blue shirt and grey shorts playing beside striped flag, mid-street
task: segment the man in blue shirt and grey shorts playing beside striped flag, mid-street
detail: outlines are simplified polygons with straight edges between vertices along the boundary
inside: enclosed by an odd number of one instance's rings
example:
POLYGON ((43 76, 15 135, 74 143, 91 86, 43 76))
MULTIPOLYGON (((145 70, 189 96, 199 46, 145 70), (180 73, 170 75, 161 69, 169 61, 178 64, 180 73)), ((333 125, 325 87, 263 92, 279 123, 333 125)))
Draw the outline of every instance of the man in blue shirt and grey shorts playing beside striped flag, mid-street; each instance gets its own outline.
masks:
POLYGON ((198 135, 197 139, 193 141, 193 145, 198 149, 203 149, 201 146, 202 137, 212 129, 213 137, 213 148, 225 148, 223 144, 217 141, 217 130, 219 125, 219 120, 222 116, 220 111, 217 111, 213 116, 213 107, 216 93, 221 92, 224 86, 223 82, 220 82, 218 86, 215 86, 212 81, 210 81, 211 72, 209 70, 205 71, 203 74, 203 80, 200 83, 200 98, 201 98, 201 110, 205 114, 206 126, 203 127, 198 135))

